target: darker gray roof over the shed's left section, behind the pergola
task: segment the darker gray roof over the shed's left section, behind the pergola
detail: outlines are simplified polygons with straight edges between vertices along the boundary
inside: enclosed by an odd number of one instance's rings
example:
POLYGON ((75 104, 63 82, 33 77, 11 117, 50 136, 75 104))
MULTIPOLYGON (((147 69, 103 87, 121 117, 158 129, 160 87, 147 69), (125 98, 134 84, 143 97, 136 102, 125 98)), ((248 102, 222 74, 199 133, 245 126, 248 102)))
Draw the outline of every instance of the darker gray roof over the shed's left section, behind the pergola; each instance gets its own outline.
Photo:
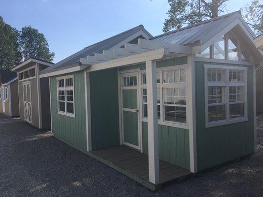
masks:
POLYGON ((103 50, 108 50, 115 46, 116 44, 120 43, 121 41, 125 40, 129 36, 133 35, 134 33, 137 33, 139 31, 144 31, 146 34, 149 35, 149 37, 152 37, 152 35, 146 31, 143 25, 139 25, 135 28, 132 28, 130 30, 127 30, 123 33, 119 33, 117 35, 114 35, 110 38, 107 38, 103 41, 100 41, 98 43, 92 44, 88 47, 85 47, 84 49, 76 52, 75 54, 71 55, 70 57, 54 64, 53 66, 50 66, 44 70, 42 70, 40 73, 48 73, 53 72, 56 70, 65 69, 68 67, 74 66, 75 63, 79 62, 80 58, 85 58, 88 55, 94 55, 94 53, 102 53, 103 50))

